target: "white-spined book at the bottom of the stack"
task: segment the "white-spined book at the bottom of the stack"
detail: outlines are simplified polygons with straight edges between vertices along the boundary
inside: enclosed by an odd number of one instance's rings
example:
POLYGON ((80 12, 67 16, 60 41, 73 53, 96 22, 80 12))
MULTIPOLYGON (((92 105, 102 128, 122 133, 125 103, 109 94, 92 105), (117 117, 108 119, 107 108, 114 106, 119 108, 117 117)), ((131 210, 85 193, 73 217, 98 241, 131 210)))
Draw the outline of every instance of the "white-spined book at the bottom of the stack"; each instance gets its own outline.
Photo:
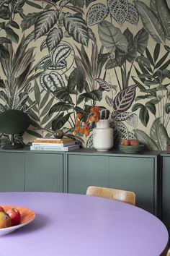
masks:
POLYGON ((68 147, 30 146, 30 150, 70 151, 70 150, 76 150, 76 149, 79 149, 79 145, 71 145, 68 147))

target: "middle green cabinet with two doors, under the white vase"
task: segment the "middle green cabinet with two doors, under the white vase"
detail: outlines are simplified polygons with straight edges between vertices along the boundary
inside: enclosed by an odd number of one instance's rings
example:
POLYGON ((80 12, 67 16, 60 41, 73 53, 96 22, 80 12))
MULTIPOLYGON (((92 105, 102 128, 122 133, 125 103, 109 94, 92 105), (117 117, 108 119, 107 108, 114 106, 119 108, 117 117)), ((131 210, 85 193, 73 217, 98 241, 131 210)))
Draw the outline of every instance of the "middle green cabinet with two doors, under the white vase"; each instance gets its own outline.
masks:
POLYGON ((85 194, 90 185, 134 191, 136 205, 161 216, 158 153, 99 153, 82 149, 67 153, 67 191, 85 194))

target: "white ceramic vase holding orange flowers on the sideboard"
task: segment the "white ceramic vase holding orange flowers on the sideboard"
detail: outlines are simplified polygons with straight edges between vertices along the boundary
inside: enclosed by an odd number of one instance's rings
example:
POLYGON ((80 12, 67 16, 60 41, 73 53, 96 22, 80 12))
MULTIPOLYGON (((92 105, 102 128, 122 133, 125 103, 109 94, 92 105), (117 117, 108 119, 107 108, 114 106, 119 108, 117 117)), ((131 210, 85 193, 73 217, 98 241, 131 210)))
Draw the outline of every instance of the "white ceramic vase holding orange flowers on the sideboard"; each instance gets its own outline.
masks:
POLYGON ((99 120, 93 129, 93 146, 99 151, 107 151, 113 147, 113 129, 109 128, 109 120, 99 120))

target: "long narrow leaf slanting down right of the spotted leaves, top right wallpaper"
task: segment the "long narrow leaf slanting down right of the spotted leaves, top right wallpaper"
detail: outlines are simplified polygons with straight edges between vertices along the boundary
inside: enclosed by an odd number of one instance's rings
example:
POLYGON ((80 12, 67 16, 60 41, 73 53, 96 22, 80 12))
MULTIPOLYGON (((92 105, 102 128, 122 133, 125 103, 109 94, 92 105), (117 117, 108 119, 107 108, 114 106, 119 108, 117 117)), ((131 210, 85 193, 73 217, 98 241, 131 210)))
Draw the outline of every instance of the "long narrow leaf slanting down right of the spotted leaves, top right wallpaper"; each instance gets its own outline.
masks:
POLYGON ((142 19, 143 26, 146 31, 152 36, 158 43, 165 43, 165 33, 161 25, 161 22, 156 17, 156 14, 144 4, 142 1, 135 1, 135 7, 138 9, 138 13, 142 19))

